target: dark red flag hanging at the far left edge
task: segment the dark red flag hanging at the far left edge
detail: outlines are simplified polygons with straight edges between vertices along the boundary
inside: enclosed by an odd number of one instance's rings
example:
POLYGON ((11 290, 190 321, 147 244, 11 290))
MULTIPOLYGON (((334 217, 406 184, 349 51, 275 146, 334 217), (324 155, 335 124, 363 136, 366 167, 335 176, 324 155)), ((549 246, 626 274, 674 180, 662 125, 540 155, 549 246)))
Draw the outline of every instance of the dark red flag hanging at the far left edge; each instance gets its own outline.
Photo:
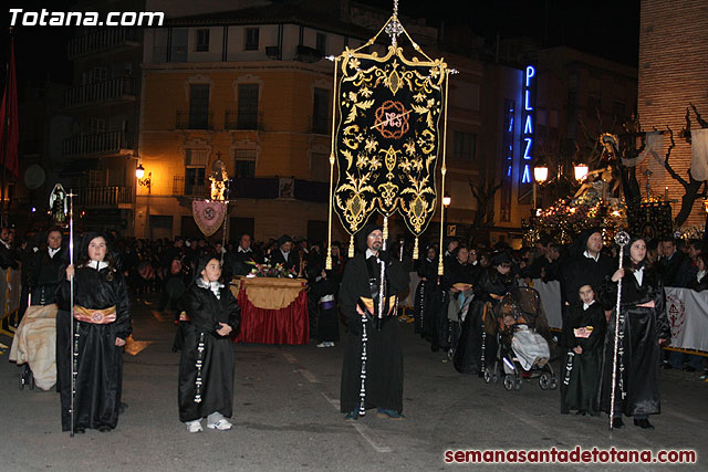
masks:
POLYGON ((4 167, 14 176, 20 177, 18 160, 18 145, 20 144, 20 128, 18 126, 18 85, 14 76, 14 40, 10 43, 10 67, 6 77, 4 95, 2 96, 2 134, 0 134, 0 153, 4 153, 4 167), (7 146, 6 146, 6 139, 7 146))

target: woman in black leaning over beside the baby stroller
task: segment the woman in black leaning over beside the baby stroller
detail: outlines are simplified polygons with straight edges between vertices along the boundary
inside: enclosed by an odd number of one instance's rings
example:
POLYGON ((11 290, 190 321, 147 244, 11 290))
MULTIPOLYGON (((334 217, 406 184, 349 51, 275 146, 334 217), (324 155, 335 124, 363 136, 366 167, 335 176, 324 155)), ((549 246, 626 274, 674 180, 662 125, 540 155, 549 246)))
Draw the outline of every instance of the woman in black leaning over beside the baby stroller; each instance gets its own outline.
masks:
POLYGON ((517 282, 511 276, 511 258, 507 251, 491 256, 491 265, 486 268, 475 285, 475 298, 462 322, 455 369, 461 374, 483 375, 486 365, 493 364, 497 355, 497 339, 492 333, 486 334, 486 318, 493 317, 492 308, 517 282), (483 347, 483 349, 482 349, 483 347))

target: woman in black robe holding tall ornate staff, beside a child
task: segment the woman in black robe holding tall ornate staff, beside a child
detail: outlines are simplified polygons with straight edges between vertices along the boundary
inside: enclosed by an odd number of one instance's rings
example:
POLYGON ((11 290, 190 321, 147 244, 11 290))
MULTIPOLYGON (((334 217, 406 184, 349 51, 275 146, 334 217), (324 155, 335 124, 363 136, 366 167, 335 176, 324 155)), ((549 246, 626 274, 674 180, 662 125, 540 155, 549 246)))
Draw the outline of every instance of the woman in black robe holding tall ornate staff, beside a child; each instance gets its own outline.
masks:
MULTIPOLYGON (((622 413, 634 417, 634 424, 654 428, 648 416, 660 411, 656 370, 660 358, 660 345, 670 340, 666 317, 664 284, 654 268, 646 263, 646 243, 634 238, 628 244, 629 255, 624 268, 617 270, 605 284, 603 306, 615 307, 617 281, 622 279, 623 322, 620 324, 617 357, 617 385, 613 427, 622 428, 622 413), (623 367, 623 369, 620 368, 623 367), (624 375, 622 375, 624 373, 624 375)), ((602 377, 597 392, 598 409, 610 412, 616 316, 613 313, 607 326, 602 377)))

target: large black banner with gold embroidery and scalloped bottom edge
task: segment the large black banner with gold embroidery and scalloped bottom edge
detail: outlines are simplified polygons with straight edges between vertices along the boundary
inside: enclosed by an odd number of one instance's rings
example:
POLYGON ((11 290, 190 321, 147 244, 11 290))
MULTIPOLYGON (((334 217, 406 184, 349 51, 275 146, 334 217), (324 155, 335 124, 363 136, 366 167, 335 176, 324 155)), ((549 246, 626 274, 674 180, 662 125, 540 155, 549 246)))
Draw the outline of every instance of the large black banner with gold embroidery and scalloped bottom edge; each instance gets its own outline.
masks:
POLYGON ((342 54, 334 208, 351 234, 374 210, 400 212, 416 237, 430 222, 446 69, 442 60, 408 61, 393 45, 383 57, 342 54))

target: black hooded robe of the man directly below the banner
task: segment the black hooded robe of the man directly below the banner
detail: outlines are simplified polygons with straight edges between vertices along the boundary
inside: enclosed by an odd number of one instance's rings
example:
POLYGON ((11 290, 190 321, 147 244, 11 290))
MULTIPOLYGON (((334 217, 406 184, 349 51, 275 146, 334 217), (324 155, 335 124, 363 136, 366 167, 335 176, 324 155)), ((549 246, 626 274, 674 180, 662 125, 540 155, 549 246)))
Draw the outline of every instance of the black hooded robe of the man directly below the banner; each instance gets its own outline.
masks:
MULTIPOLYGON (((345 336, 344 359, 342 364, 341 410, 350 412, 357 409, 361 400, 362 385, 362 317, 356 313, 360 297, 372 297, 368 283, 367 264, 375 262, 366 260, 366 237, 379 225, 368 224, 357 235, 362 252, 356 254, 344 266, 339 301, 344 314, 348 332, 345 336), (363 235, 362 235, 363 234, 363 235)), ((379 266, 379 265, 377 265, 379 266)), ((381 277, 374 271, 376 279, 381 277)), ((408 286, 408 274, 402 264, 391 258, 386 266, 387 294, 393 295, 408 286)), ((398 319, 384 316, 382 328, 377 331, 373 323, 366 323, 366 400, 365 408, 384 408, 403 411, 403 348, 398 333, 398 319)))

